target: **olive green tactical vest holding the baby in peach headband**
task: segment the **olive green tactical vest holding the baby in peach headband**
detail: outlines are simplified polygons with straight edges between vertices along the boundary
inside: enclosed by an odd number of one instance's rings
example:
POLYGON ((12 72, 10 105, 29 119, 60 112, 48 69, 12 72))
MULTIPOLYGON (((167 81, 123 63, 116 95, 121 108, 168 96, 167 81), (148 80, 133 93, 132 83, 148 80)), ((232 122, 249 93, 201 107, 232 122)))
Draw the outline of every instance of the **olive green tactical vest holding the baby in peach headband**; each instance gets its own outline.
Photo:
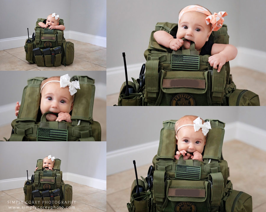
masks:
MULTIPOLYGON (((155 31, 164 30, 176 35, 178 24, 157 23, 155 31)), ((119 106, 202 106, 202 105, 259 105, 257 94, 236 89, 230 75, 229 62, 218 73, 208 63, 210 55, 199 55, 191 42, 190 49, 173 51, 161 46, 150 36, 145 85, 140 87, 140 79, 128 82, 133 92, 125 95, 125 85, 121 86, 119 106)), ((223 25, 209 37, 214 43, 228 44, 227 26, 223 25)))

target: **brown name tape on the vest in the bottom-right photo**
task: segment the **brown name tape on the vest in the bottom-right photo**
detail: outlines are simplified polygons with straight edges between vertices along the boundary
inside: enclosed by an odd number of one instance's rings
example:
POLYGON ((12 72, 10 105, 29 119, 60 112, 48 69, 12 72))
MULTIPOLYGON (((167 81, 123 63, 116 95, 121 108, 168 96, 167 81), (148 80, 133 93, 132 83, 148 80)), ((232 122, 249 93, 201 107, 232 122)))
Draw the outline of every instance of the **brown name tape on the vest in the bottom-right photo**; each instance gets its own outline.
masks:
POLYGON ((205 197, 205 189, 169 188, 168 196, 205 197))

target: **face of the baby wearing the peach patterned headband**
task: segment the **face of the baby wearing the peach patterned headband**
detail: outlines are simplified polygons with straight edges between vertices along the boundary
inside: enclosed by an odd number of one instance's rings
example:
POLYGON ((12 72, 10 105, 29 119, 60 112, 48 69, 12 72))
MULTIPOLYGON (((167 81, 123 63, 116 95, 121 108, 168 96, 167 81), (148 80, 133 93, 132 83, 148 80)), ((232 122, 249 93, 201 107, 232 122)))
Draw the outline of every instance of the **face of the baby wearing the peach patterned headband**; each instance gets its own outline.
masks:
MULTIPOLYGON (((211 34, 210 24, 206 24, 207 15, 200 12, 186 12, 181 16, 181 20, 176 33, 176 38, 185 38, 195 43, 195 49, 201 49, 208 41, 211 34)), ((190 42, 184 41, 189 43, 190 42)), ((185 45, 185 43, 184 43, 185 45)))

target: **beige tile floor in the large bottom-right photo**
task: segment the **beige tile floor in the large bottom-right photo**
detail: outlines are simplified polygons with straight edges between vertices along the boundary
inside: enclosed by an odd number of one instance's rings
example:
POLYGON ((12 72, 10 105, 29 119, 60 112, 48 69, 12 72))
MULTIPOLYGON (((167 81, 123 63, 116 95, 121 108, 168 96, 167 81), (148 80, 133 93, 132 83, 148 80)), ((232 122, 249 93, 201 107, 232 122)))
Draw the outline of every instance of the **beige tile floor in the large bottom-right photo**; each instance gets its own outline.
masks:
MULTIPOLYGON (((155 153, 156 154, 156 153, 155 153)), ((232 140, 223 144, 223 158, 230 167, 233 189, 252 196, 253 212, 264 212, 266 207, 266 152, 232 140)), ((152 158, 151 158, 152 160, 152 158)), ((137 163, 137 159, 136 159, 137 163)), ((138 178, 147 176, 151 164, 137 167, 138 178)), ((132 164, 133 166, 133 164, 132 164)), ((107 211, 127 212, 134 168, 107 176, 107 211)))

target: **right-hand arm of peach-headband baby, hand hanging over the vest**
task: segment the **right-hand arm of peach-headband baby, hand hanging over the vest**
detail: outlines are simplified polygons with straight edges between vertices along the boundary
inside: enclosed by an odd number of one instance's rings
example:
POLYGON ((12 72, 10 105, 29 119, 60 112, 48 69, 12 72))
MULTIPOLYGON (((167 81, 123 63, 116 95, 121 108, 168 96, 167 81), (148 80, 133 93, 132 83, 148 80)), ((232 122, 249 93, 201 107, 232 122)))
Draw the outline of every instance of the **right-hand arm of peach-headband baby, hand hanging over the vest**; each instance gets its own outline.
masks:
POLYGON ((237 49, 230 44, 213 44, 211 55, 209 57, 210 66, 217 69, 219 65, 218 72, 220 72, 226 62, 236 58, 237 49))

